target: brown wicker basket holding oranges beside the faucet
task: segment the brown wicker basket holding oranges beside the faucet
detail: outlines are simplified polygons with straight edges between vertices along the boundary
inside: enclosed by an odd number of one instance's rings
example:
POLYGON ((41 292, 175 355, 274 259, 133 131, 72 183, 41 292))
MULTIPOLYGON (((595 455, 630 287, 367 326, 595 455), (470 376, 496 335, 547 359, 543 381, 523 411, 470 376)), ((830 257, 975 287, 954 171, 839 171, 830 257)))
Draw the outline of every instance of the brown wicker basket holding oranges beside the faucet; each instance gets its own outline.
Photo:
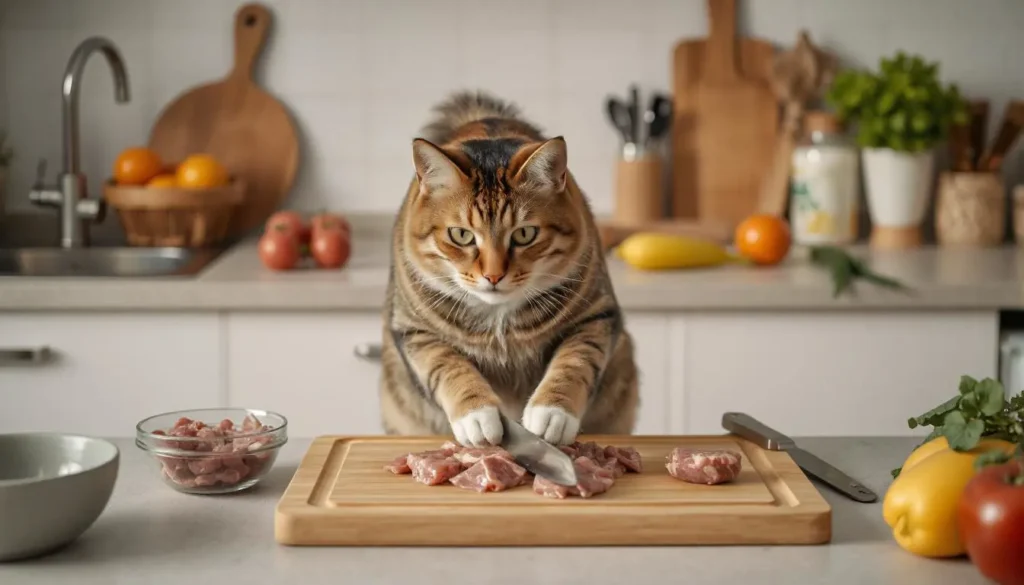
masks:
POLYGON ((103 184, 103 199, 132 246, 216 246, 244 198, 245 185, 236 177, 210 189, 103 184))

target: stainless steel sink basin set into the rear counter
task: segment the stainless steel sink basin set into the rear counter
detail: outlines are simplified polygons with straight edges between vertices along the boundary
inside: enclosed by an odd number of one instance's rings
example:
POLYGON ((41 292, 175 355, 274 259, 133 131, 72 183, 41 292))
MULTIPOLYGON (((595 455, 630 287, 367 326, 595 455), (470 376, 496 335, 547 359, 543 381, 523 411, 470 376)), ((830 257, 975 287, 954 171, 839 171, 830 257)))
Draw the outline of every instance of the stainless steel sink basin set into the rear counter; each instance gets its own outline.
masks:
POLYGON ((220 252, 188 248, 8 248, 0 249, 0 277, 194 276, 220 252))

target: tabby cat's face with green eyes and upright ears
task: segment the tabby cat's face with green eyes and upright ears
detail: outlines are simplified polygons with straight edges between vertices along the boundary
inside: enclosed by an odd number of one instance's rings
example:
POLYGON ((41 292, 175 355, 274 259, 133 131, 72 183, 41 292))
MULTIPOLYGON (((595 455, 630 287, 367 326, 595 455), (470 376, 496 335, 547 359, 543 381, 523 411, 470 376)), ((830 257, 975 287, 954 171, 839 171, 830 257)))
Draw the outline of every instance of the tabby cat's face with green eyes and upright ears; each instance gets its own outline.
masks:
POLYGON ((410 260, 434 290, 517 305, 572 278, 581 225, 564 194, 565 142, 504 150, 507 161, 486 168, 474 164, 479 156, 414 144, 421 189, 410 221, 410 260))

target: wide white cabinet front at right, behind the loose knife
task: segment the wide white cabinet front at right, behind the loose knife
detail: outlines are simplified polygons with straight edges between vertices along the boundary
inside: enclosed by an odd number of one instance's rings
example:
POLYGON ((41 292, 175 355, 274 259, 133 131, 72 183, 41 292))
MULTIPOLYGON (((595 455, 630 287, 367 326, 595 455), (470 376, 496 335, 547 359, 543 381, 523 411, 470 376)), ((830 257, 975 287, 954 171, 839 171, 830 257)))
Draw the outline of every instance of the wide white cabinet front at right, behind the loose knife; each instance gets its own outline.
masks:
POLYGON ((992 312, 687 315, 674 320, 674 430, 719 433, 745 412, 790 435, 918 435, 906 420, 996 377, 992 312))

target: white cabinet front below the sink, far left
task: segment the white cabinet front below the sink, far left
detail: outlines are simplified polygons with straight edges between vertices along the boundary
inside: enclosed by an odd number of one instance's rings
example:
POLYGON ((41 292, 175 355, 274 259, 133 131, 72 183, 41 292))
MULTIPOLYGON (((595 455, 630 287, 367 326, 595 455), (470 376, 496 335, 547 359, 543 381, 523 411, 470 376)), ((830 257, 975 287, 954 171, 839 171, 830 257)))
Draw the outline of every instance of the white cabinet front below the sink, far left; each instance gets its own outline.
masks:
POLYGON ((216 314, 0 314, 0 432, 133 436, 223 404, 216 314), (49 347, 51 359, 33 363, 49 347))

